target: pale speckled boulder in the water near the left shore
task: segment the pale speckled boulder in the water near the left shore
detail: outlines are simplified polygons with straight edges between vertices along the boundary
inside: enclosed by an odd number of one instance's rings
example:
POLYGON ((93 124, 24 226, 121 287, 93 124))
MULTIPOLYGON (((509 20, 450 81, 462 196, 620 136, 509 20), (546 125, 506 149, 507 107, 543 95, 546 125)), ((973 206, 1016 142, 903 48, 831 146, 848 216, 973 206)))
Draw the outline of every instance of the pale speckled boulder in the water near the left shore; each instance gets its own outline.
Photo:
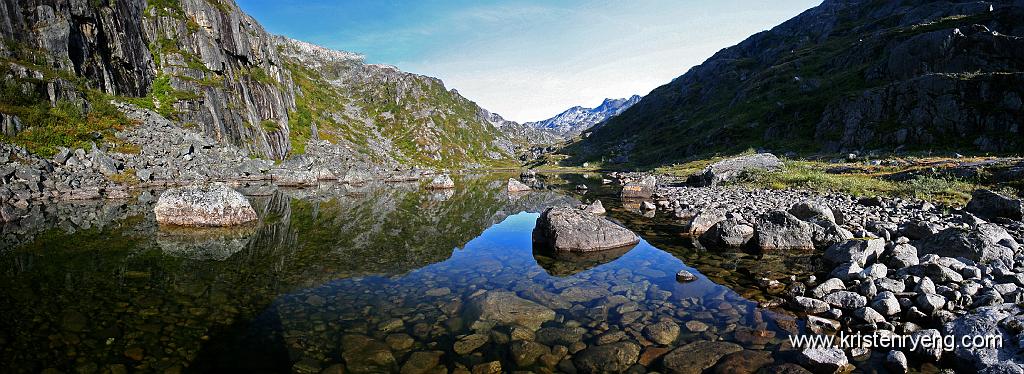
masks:
POLYGON ((257 218, 249 200, 224 183, 167 190, 153 211, 158 222, 183 226, 229 226, 257 218))

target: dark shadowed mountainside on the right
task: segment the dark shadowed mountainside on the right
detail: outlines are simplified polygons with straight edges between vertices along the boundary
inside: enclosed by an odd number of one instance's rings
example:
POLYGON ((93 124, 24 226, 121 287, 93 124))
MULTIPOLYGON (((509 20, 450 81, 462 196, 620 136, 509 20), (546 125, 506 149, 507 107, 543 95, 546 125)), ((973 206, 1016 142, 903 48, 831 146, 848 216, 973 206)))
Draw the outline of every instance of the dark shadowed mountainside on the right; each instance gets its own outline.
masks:
POLYGON ((654 89, 569 162, 749 148, 1020 153, 1024 2, 826 0, 654 89))

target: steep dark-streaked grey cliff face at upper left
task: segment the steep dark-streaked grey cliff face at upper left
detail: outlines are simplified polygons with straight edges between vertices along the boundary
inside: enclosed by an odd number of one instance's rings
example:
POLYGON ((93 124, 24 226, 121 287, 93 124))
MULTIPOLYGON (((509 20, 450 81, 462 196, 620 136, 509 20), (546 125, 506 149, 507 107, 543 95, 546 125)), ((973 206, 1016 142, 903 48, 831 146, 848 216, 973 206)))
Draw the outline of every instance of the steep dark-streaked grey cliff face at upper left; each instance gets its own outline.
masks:
POLYGON ((10 0, 2 6, 6 70, 36 78, 23 89, 86 108, 88 90, 140 97, 135 102, 256 156, 288 153, 291 79, 269 35, 232 2, 10 0))

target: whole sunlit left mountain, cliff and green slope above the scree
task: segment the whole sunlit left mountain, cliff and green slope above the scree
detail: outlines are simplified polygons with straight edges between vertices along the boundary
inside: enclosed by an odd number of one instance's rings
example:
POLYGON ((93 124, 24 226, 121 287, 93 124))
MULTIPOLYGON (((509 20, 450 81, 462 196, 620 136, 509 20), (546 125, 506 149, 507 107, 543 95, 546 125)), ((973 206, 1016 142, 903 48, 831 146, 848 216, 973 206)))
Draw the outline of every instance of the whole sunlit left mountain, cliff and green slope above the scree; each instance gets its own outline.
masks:
POLYGON ((116 146, 111 100, 252 157, 310 141, 383 165, 512 159, 522 141, 440 80, 267 33, 230 0, 0 2, 2 140, 41 155, 116 146))

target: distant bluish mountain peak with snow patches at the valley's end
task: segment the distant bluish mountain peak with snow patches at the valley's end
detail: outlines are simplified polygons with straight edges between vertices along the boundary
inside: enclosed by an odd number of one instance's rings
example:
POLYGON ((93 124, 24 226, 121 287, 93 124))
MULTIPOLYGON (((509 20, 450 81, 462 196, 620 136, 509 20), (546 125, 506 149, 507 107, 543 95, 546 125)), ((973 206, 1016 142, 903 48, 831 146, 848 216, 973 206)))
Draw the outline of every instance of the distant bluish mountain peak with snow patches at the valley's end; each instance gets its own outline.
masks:
POLYGON ((580 135, 605 120, 640 101, 640 95, 629 98, 605 98, 597 108, 572 107, 544 121, 527 122, 526 126, 553 133, 561 138, 580 135))

